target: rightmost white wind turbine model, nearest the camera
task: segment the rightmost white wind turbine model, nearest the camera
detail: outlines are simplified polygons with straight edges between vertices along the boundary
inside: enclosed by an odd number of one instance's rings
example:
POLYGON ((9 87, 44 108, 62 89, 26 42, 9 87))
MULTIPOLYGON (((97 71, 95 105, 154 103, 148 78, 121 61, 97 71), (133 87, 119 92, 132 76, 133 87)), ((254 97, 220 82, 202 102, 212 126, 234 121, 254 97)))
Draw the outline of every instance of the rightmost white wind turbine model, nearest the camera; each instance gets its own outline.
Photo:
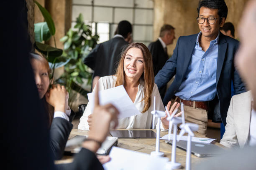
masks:
POLYGON ((181 138, 182 135, 184 135, 184 133, 188 133, 186 170, 191 170, 191 138, 195 136, 193 132, 198 130, 198 125, 194 123, 185 123, 183 103, 181 103, 181 108, 182 108, 182 125, 179 126, 179 128, 181 128, 181 131, 179 133, 177 141, 179 142, 179 139, 181 138))

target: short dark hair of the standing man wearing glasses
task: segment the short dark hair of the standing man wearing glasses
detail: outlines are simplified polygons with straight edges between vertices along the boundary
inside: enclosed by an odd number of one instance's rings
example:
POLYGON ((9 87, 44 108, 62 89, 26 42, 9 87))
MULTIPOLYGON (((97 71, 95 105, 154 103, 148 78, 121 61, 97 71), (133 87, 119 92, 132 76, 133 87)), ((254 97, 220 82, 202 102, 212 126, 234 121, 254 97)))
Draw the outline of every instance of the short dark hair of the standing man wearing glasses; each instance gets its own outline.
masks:
POLYGON ((218 15, 220 18, 226 19, 228 16, 228 7, 224 0, 200 0, 197 7, 198 16, 201 7, 218 9, 218 15))

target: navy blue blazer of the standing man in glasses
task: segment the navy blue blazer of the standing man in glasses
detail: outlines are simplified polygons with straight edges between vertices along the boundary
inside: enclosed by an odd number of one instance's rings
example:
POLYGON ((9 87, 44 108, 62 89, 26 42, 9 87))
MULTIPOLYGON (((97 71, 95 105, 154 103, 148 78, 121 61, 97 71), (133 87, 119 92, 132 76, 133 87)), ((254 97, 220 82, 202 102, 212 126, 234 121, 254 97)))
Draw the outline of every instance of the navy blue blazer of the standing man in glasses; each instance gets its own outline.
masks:
MULTIPOLYGON (((168 88, 164 96, 164 105, 167 105, 172 99, 179 89, 182 80, 185 78, 195 48, 197 35, 179 37, 172 57, 166 61, 164 67, 155 77, 156 85, 158 88, 161 88, 175 75, 172 85, 168 88)), ((217 95, 214 100, 209 101, 208 119, 212 119, 213 122, 223 122, 226 125, 226 117, 231 99, 231 80, 233 80, 236 94, 245 92, 246 89, 234 67, 233 61, 239 45, 238 40, 225 36, 220 32, 218 43, 216 70, 217 95)))

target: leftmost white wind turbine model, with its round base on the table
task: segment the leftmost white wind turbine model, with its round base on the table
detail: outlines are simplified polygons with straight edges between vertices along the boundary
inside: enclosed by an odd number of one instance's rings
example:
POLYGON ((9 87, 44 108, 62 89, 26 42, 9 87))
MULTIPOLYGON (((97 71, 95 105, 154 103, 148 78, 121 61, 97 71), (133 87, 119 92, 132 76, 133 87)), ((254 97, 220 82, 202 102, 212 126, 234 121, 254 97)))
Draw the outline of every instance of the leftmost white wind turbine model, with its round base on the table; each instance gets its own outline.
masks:
POLYGON ((161 117, 165 116, 165 112, 161 110, 156 110, 156 96, 154 96, 154 110, 151 111, 153 115, 153 129, 155 127, 155 117, 157 117, 157 124, 156 127, 156 151, 151 152, 151 156, 164 156, 164 153, 159 152, 160 149, 160 119, 161 117))

